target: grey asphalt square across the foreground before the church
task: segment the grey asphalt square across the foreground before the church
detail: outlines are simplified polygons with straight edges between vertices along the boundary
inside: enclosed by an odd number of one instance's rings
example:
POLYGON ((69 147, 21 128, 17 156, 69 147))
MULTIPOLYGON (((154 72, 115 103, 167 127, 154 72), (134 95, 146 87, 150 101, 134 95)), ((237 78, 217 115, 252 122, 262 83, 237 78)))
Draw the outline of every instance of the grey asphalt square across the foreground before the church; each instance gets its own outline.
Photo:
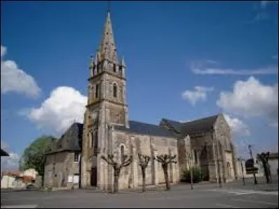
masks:
MULTIPOLYGON (((248 184, 249 185, 249 184, 248 184)), ((240 183, 172 186, 147 192, 120 191, 109 194, 92 189, 41 191, 1 191, 1 205, 33 205, 37 208, 278 208, 278 181, 264 189, 240 183), (277 189, 276 189, 277 185, 277 189), (272 189, 273 187, 273 189, 272 189)), ((29 206, 30 207, 30 206, 29 206)), ((2 208, 2 207, 1 207, 2 208)))

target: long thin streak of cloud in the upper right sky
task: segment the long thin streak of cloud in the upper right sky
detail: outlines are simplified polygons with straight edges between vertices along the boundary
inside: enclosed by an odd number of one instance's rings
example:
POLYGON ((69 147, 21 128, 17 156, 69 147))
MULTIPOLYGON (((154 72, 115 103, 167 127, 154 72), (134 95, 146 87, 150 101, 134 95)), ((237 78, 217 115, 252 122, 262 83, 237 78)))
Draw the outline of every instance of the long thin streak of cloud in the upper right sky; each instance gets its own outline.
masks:
POLYGON ((271 75, 278 74, 278 66, 270 66, 256 70, 233 70, 225 68, 191 68, 197 75, 271 75))

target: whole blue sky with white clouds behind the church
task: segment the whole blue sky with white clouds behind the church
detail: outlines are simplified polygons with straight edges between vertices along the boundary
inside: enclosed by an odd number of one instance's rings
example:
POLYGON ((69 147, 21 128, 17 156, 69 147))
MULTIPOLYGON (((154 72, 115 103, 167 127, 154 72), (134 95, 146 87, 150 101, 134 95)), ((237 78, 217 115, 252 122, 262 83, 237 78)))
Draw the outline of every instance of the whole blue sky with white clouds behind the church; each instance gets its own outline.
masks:
MULTIPOLYGON (((77 100, 85 101, 106 8, 106 1, 1 1, 1 147, 15 154, 1 165, 15 166, 41 134, 59 137, 82 121, 77 100)), ((111 8, 131 120, 223 112, 240 155, 248 144, 278 150, 278 1, 112 1, 111 8)))

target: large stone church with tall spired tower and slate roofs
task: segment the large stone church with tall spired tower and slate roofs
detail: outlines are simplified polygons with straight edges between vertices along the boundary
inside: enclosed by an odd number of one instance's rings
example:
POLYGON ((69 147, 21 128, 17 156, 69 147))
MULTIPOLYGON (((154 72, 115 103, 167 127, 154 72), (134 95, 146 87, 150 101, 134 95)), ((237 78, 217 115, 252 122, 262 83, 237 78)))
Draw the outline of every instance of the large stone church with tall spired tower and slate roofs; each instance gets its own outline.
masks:
MULTIPOLYGON (((82 134, 82 139, 77 137, 77 134, 76 137, 70 138, 68 141, 74 141, 72 144, 77 146, 79 144, 79 148, 68 148, 67 153, 72 157, 64 157, 74 160, 76 155, 81 155, 78 160, 79 169, 72 169, 75 164, 62 166, 63 160, 59 167, 54 167, 54 155, 61 155, 61 152, 54 148, 47 155, 45 179, 49 180, 45 180, 45 183, 50 184, 52 176, 56 176, 55 173, 62 173, 60 175, 64 176, 63 179, 67 176, 80 176, 80 187, 112 189, 113 169, 101 156, 113 154, 115 159, 120 161, 122 155, 133 155, 133 162, 123 168, 119 176, 120 189, 133 189, 142 185, 137 157, 139 152, 151 157, 176 155, 177 164, 169 164, 171 183, 179 183, 183 170, 194 166, 199 167, 204 173, 204 180, 216 182, 220 177, 220 180, 227 182, 236 178, 234 146, 229 125, 223 114, 186 123, 166 118, 163 118, 159 125, 129 121, 126 63, 123 58, 119 59, 117 56, 110 11, 107 11, 100 47, 92 57, 89 69, 84 124, 74 124, 70 127, 79 127, 78 133, 82 134), (71 170, 75 170, 75 173, 70 172, 71 170)), ((146 169, 146 185, 164 182, 160 163, 151 160, 146 169)))

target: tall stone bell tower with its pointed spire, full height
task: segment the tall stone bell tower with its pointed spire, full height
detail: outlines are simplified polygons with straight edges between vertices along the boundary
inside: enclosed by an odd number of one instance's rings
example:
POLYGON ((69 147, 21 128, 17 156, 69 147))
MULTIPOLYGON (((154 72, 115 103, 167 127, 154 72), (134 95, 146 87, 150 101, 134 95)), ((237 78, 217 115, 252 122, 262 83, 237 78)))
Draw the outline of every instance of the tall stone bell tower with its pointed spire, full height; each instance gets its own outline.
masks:
POLYGON ((82 138, 82 187, 103 188, 105 170, 100 156, 108 152, 109 125, 128 127, 126 63, 118 59, 110 10, 107 10, 103 38, 89 63, 88 101, 82 138))

